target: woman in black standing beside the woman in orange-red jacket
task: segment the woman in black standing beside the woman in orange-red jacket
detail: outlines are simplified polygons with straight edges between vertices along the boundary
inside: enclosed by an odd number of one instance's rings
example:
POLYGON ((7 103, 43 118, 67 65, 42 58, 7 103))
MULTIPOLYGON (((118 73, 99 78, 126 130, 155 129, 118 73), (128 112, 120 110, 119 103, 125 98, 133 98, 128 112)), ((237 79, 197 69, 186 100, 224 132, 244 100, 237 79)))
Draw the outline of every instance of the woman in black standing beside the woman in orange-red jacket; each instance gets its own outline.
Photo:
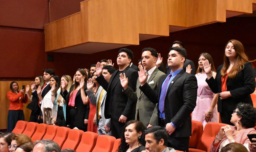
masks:
POLYGON ((28 100, 30 101, 30 103, 28 104, 27 108, 31 110, 31 114, 29 117, 29 122, 37 122, 39 120, 39 112, 40 112, 40 107, 38 105, 38 96, 37 96, 37 91, 36 89, 38 88, 38 86, 43 86, 44 85, 44 79, 42 76, 37 76, 35 78, 35 81, 31 82, 31 90, 32 90, 32 94, 31 96, 29 95, 29 89, 28 86, 26 88, 26 93, 28 96, 28 100))

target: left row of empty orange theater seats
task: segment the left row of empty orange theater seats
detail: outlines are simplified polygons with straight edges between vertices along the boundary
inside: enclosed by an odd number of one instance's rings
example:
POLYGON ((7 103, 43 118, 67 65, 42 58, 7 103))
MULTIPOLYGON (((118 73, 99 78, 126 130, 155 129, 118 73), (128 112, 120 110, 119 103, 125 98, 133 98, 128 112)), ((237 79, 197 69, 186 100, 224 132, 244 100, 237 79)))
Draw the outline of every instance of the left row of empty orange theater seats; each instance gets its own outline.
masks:
POLYGON ((74 149, 77 152, 115 152, 120 141, 109 135, 99 136, 94 132, 26 121, 18 121, 12 132, 25 134, 33 142, 51 139, 58 143, 61 149, 74 149))

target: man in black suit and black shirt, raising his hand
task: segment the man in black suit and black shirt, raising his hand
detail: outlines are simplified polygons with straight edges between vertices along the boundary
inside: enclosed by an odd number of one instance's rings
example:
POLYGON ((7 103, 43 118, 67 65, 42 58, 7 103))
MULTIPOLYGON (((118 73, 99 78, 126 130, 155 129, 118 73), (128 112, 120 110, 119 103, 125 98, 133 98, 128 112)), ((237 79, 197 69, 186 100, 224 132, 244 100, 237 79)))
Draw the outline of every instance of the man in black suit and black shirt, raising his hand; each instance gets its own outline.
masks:
POLYGON ((119 78, 120 73, 129 75, 130 81, 128 86, 135 91, 138 72, 129 66, 132 59, 133 52, 131 50, 127 48, 121 48, 119 50, 116 59, 119 69, 112 74, 109 83, 102 75, 100 63, 98 62, 96 65, 96 73, 98 74, 96 81, 107 91, 104 116, 106 119, 111 118, 110 128, 112 129, 112 135, 116 137, 116 139, 120 138, 121 131, 126 121, 134 120, 135 118, 136 103, 131 101, 122 91, 123 87, 121 86, 119 78))

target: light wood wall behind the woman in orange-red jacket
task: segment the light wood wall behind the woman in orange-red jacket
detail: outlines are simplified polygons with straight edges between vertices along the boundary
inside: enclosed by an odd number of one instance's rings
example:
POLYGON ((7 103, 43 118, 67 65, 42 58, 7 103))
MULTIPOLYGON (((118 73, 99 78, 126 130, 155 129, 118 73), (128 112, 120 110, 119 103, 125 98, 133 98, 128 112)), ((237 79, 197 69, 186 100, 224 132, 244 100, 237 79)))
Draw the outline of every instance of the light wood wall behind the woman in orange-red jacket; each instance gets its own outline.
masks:
MULTIPOLYGON (((32 80, 31 80, 32 81, 32 80)), ((16 81, 19 85, 19 88, 22 87, 22 85, 30 85, 31 81, 16 81)), ((7 114, 9 109, 9 100, 7 98, 7 92, 10 91, 10 83, 12 81, 0 81, 0 129, 7 129, 7 114)), ((31 89, 30 89, 31 94, 31 89)), ((29 120, 31 110, 27 109, 26 106, 29 104, 29 101, 26 104, 23 104, 23 112, 25 116, 25 121, 29 120)))

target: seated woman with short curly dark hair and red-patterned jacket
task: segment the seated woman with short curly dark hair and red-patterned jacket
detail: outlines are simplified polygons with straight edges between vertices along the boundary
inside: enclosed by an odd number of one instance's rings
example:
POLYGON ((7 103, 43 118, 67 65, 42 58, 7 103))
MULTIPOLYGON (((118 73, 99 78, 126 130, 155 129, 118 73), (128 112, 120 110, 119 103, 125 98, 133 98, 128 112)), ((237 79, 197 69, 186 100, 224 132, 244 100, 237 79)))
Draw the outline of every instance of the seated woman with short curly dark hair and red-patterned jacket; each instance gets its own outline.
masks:
POLYGON ((240 143, 247 149, 249 138, 247 134, 255 134, 253 128, 256 122, 256 109, 250 104, 237 104, 230 122, 235 126, 226 125, 220 128, 216 138, 211 143, 210 152, 221 151, 228 143, 240 143))

